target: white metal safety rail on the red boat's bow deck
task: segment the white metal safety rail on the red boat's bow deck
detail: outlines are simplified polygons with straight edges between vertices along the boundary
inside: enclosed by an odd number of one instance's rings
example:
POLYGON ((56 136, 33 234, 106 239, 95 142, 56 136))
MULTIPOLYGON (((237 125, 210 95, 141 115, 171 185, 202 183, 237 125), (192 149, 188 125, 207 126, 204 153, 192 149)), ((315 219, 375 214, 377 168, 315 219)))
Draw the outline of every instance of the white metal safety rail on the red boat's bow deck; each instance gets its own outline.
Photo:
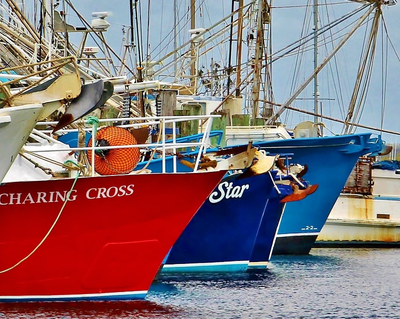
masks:
MULTIPOLYGON (((196 156, 196 160, 194 163, 194 168, 193 172, 197 171, 198 164, 200 162, 201 156, 203 153, 205 153, 207 146, 209 145, 209 137, 210 137, 210 130, 211 130, 211 124, 212 124, 212 119, 215 117, 220 117, 221 115, 188 115, 188 116, 154 116, 154 117, 119 117, 119 118, 103 118, 103 119, 97 119, 96 122, 98 123, 103 123, 103 122, 123 122, 123 121, 136 121, 135 123, 131 124, 123 124, 123 125, 116 125, 119 127, 125 127, 125 128, 138 128, 138 127, 143 127, 143 125, 146 126, 151 126, 151 125, 159 125, 160 126, 160 132, 161 136, 158 137, 158 141, 154 143, 145 143, 145 144, 135 144, 135 145, 114 145, 114 146, 95 146, 96 145, 96 132, 94 129, 94 125, 92 127, 85 127, 83 128, 84 131, 91 131, 91 138, 92 138, 92 145, 90 147, 69 147, 68 150, 70 151, 77 151, 77 150, 91 150, 91 166, 93 167, 91 174, 94 176, 94 151, 95 150, 104 150, 104 149, 115 149, 115 148, 152 148, 153 150, 157 148, 162 149, 162 172, 166 172, 166 165, 165 165, 165 156, 166 156, 166 151, 167 150, 172 150, 172 153, 176 153, 177 148, 183 148, 183 147, 198 147, 198 154, 196 156), (182 121, 187 121, 187 120, 195 120, 195 119, 209 119, 206 122, 205 127, 203 128, 203 132, 198 134, 197 140, 195 142, 188 142, 185 141, 186 139, 181 139, 176 137, 176 123, 177 122, 182 122, 182 121), (165 138, 165 126, 166 124, 172 124, 172 139, 171 140, 166 140, 165 138), (200 138, 201 136, 201 138, 200 138)), ((88 120, 84 120, 84 123, 89 123, 88 120)), ((36 125, 55 125, 57 122, 37 122, 36 125)), ((100 127, 96 128, 97 130, 100 129, 100 127)), ((78 132, 79 129, 60 129, 57 131, 57 134, 61 134, 63 132, 78 132)), ((37 135, 41 138, 45 138, 51 142, 58 142, 61 143, 60 141, 56 140, 55 138, 52 138, 51 136, 47 134, 51 134, 52 130, 44 129, 44 130, 38 130, 34 129, 32 131, 31 136, 34 137, 34 135, 37 135)), ((33 152, 47 152, 48 149, 37 149, 34 150, 33 152)), ((65 151, 65 149, 52 149, 51 151, 65 151)), ((173 156, 173 172, 176 172, 176 156, 173 156)))

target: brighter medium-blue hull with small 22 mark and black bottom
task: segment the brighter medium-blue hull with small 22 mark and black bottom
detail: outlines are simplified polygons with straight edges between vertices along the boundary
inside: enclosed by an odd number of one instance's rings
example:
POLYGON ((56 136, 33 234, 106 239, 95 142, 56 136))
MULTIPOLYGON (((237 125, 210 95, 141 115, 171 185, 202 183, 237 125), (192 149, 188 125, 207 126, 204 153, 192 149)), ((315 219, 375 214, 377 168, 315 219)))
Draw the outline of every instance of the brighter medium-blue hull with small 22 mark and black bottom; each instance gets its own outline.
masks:
POLYGON ((286 204, 273 254, 307 254, 324 225, 358 157, 381 148, 370 133, 256 142, 269 153, 292 153, 292 162, 308 165, 304 178, 316 192, 286 204))

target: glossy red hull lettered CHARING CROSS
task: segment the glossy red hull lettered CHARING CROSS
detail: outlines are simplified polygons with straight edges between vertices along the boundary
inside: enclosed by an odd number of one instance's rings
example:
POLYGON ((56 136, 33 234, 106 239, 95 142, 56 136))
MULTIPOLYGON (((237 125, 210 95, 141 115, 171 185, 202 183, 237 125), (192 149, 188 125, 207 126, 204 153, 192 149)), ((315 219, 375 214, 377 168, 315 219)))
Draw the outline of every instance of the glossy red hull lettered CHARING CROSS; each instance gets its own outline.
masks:
MULTIPOLYGON (((79 178, 49 236, 25 261, 0 273, 0 301, 143 297, 162 259, 223 175, 79 178)), ((42 240, 72 182, 0 186, 0 271, 42 240)))

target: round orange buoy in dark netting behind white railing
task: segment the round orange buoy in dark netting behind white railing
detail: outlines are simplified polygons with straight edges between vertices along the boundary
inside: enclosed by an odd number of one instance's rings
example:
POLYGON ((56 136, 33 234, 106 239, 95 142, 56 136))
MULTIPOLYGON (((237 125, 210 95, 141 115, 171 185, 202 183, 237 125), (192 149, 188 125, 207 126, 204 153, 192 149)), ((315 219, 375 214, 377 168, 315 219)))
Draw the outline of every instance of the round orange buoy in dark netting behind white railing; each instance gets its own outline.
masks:
MULTIPOLYGON (((133 135, 125 128, 107 126, 96 133, 96 146, 119 146, 137 144, 133 135)), ((87 146, 91 146, 91 138, 87 146)), ((91 150, 86 156, 91 162, 91 150)), ((127 174, 136 167, 140 151, 136 147, 99 149, 94 151, 94 171, 100 175, 127 174)))

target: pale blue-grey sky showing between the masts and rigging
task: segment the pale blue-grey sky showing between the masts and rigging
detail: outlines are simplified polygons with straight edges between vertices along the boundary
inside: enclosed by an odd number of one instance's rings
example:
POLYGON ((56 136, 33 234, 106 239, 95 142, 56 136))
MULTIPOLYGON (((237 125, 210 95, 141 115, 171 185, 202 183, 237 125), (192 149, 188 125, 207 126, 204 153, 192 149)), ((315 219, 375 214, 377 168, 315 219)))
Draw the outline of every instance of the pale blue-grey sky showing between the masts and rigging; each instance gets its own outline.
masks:
MULTIPOLYGON (((142 22, 142 36, 143 36, 143 47, 147 47, 146 38, 148 36, 150 43, 150 52, 152 53, 151 59, 155 59, 159 54, 165 54, 172 48, 172 37, 170 31, 173 25, 173 0, 139 0, 141 9, 141 22, 142 22), (150 11, 148 11, 148 3, 150 3, 150 11), (150 20, 147 21, 148 13, 150 12, 150 20), (147 28, 147 25, 149 28, 147 28), (148 34, 147 34, 148 29, 148 34), (169 34, 168 34, 169 33, 169 34), (159 43, 162 39, 166 38, 168 42, 167 47, 159 47, 159 43)), ((333 3, 332 9, 329 11, 329 18, 331 20, 335 17, 342 16, 345 12, 351 11, 358 7, 359 3, 341 3, 342 0, 326 0, 328 3, 333 3), (337 3, 337 4, 335 4, 337 3)), ((187 9, 189 0, 177 0, 180 4, 179 18, 184 19, 184 10, 187 9)), ((230 0, 198 0, 201 8, 198 10, 196 15, 196 27, 207 27, 211 23, 219 20, 222 16, 230 12, 230 0)), ((245 1, 245 3, 248 1, 245 1)), ((322 1, 320 1, 322 2, 322 1)), ((129 0, 72 0, 72 3, 79 10, 79 12, 88 20, 90 20, 91 12, 93 11, 110 11, 112 14, 107 17, 107 21, 111 24, 105 37, 108 44, 119 52, 121 47, 121 36, 122 26, 129 25, 129 0)), ((323 3, 325 3, 323 1, 323 3)), ((308 17, 305 16, 305 4, 307 0, 273 0, 272 8, 272 52, 279 48, 284 47, 286 44, 295 41, 300 37, 301 28, 304 20, 308 23, 308 17)), ((400 55, 400 3, 392 6, 383 7, 383 17, 388 28, 388 35, 394 46, 397 54, 400 55)), ((326 16, 320 16, 320 23, 323 23, 326 16)), ((73 12, 69 12, 69 23, 76 21, 76 17, 73 12)), ((326 75, 322 72, 319 76, 319 96, 322 101, 323 113, 328 116, 343 118, 343 112, 346 110, 348 100, 352 91, 352 83, 354 82, 355 74, 357 72, 359 64, 359 52, 362 48, 362 41, 365 36, 365 27, 361 28, 354 34, 354 39, 346 43, 343 48, 338 52, 335 64, 340 68, 341 85, 343 86, 339 95, 343 96, 343 102, 341 110, 338 109, 337 100, 340 99, 337 90, 333 89, 335 84, 332 84, 332 79, 328 79, 329 73, 332 71, 326 71, 326 75), (329 80, 329 81, 328 81, 329 80)), ((187 40, 188 33, 187 28, 182 29, 179 32, 179 42, 187 40)), ((376 44, 376 56, 375 64, 372 70, 371 81, 368 88, 366 103, 363 108, 360 123, 365 125, 371 125, 374 127, 380 127, 381 125, 381 113, 382 113, 382 74, 386 74, 383 71, 385 68, 385 61, 382 62, 382 37, 378 36, 376 44), (382 66, 383 63, 383 66, 382 66)), ((384 40, 385 41, 385 40, 384 40)), ((337 42, 337 41, 336 41, 337 42)), ((383 42, 383 47, 386 47, 386 43, 383 42)), ((387 44, 387 54, 384 52, 383 57, 387 56, 387 78, 386 78, 386 95, 385 95, 385 108, 383 115, 383 128, 400 131, 400 121, 395 116, 398 110, 398 101, 400 100, 400 89, 399 86, 399 74, 400 74, 400 61, 395 55, 394 50, 391 48, 390 43, 387 44)), ((215 48, 216 49, 216 48, 215 48)), ((222 51, 222 55, 226 55, 226 46, 218 47, 219 51, 222 51)), ((319 59, 321 60, 326 52, 324 49, 318 50, 319 59)), ((312 57, 310 53, 307 53, 310 57, 308 60, 303 62, 300 67, 300 71, 296 73, 295 81, 294 68, 295 59, 285 58, 276 61, 272 67, 272 81, 273 81, 273 92, 275 101, 281 103, 287 99, 292 91, 293 87, 297 87, 301 81, 310 74, 310 70, 313 69, 312 57), (294 83, 294 84, 292 84, 294 83)), ((217 57, 215 57, 217 59, 217 57)), ((329 66, 330 67, 330 66, 329 66)), ((334 73, 334 72, 333 72, 334 73)), ((337 81, 336 81, 337 82, 337 81)), ((296 100, 293 105, 299 108, 305 108, 312 110, 312 85, 309 85, 303 94, 303 100, 296 100)), ((286 124, 293 127, 295 123, 301 120, 312 120, 312 116, 301 115, 299 113, 290 113, 288 116, 283 117, 286 124)), ((340 133, 341 124, 331 123, 323 120, 329 130, 334 133, 340 133)), ((365 129, 357 129, 356 131, 361 132, 365 129)), ((397 141, 396 135, 383 133, 383 139, 387 142, 397 141)), ((400 142, 400 138, 399 138, 400 142)))

